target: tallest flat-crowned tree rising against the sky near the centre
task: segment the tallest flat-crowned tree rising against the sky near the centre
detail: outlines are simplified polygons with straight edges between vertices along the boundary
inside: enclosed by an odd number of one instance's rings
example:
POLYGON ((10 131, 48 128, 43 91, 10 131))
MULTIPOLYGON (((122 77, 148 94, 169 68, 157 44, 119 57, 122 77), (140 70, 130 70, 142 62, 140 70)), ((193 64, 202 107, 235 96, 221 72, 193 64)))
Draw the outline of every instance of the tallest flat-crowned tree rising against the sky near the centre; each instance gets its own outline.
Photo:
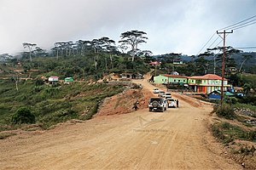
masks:
POLYGON ((125 31, 121 34, 120 38, 122 40, 120 40, 119 42, 122 45, 131 46, 131 56, 132 56, 131 61, 134 61, 135 55, 137 54, 138 44, 146 43, 146 40, 148 39, 148 37, 145 37, 144 35, 147 35, 147 33, 144 31, 137 31, 137 30, 125 31))

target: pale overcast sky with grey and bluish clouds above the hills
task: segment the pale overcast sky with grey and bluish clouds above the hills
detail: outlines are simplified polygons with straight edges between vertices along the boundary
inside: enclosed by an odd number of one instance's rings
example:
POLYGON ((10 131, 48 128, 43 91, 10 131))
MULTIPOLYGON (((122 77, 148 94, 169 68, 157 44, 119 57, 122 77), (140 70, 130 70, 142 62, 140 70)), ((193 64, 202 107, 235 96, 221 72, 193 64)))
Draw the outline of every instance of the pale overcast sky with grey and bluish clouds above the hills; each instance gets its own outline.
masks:
MULTIPOLYGON (((122 32, 138 30, 147 32, 143 50, 192 55, 218 29, 255 14, 255 0, 0 0, 0 54, 24 51, 23 42, 45 49, 79 39, 118 42, 122 32)), ((226 44, 256 46, 256 24, 234 31, 226 44)))

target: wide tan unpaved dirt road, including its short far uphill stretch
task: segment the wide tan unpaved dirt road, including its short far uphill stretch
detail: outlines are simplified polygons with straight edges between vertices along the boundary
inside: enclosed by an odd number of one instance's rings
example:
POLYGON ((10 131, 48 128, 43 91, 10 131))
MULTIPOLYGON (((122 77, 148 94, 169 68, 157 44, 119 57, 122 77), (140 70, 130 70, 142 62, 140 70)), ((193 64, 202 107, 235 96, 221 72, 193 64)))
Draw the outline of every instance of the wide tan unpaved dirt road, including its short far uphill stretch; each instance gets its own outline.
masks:
POLYGON ((0 140, 0 169, 241 169, 209 133, 212 106, 174 95, 180 107, 164 113, 96 116, 0 140))

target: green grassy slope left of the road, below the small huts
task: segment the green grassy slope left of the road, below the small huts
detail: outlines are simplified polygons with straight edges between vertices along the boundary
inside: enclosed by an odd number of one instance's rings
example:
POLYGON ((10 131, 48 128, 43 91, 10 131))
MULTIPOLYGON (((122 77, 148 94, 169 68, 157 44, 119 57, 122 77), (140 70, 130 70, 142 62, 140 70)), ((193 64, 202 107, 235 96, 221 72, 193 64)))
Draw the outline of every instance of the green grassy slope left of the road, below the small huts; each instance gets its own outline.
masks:
POLYGON ((19 91, 16 91, 14 82, 0 80, 0 89, 0 131, 3 131, 22 126, 11 122, 15 111, 22 106, 28 107, 36 116, 36 123, 44 128, 69 119, 90 119, 102 99, 119 94, 124 88, 106 83, 87 85, 79 82, 56 87, 47 84, 35 86, 30 81, 19 82, 19 91))

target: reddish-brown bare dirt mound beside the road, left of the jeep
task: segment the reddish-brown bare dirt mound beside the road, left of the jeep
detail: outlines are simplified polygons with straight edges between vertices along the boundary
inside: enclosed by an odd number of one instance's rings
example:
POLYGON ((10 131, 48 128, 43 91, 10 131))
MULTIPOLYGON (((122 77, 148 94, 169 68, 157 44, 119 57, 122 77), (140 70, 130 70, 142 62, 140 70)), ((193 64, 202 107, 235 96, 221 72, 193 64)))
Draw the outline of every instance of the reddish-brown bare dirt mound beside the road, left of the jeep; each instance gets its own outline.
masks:
POLYGON ((130 113, 133 104, 138 102, 138 110, 148 107, 152 93, 147 89, 127 89, 121 94, 104 99, 96 116, 108 116, 130 113))

